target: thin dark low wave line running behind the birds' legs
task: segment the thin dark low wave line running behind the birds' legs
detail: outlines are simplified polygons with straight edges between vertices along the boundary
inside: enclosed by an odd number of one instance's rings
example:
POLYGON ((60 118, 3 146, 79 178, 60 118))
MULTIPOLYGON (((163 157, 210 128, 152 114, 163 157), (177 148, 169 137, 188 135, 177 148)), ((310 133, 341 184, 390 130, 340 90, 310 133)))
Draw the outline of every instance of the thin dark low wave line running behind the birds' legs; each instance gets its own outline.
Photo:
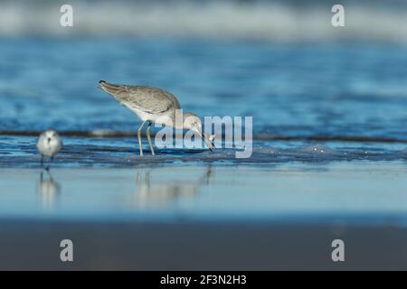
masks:
MULTIPOLYGON (((25 130, 25 131, 12 131, 0 130, 0 135, 14 135, 14 136, 38 136, 41 131, 25 130)), ((112 129, 97 129, 97 130, 70 130, 61 131, 62 136, 75 136, 75 137, 136 137, 136 131, 120 131, 112 129)), ((143 134, 142 134, 143 135, 143 134)), ((151 133, 154 137, 155 134, 151 133)), ((144 135, 145 136, 145 135, 144 135)), ((279 135, 279 134, 253 134, 253 140, 262 141, 315 141, 315 142, 357 142, 357 143, 400 143, 407 144, 407 139, 397 137, 381 137, 381 136, 364 136, 364 135, 279 135)))

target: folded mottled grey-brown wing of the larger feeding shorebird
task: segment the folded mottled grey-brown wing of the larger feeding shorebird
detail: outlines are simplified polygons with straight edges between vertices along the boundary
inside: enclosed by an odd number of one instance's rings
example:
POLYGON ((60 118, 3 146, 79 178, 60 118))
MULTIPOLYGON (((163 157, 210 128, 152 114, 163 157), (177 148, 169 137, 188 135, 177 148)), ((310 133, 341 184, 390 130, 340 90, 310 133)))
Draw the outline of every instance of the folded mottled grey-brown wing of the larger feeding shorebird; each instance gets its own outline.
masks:
POLYGON ((172 107, 180 108, 175 96, 163 89, 116 85, 107 82, 101 83, 100 87, 114 96, 122 105, 137 108, 147 113, 157 114, 172 107))

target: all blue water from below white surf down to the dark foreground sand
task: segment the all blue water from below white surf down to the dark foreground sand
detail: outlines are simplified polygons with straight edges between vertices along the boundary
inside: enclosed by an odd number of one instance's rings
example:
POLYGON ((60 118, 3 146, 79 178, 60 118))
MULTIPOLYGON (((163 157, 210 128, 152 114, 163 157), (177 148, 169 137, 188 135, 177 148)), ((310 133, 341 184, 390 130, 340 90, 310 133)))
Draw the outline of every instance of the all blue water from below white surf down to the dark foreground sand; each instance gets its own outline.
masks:
POLYGON ((0 54, 3 218, 405 223, 405 46, 20 38, 0 54), (252 116, 251 158, 152 157, 147 142, 140 158, 137 117, 99 79, 168 89, 202 117, 252 116), (41 182, 49 126, 64 146, 41 182))

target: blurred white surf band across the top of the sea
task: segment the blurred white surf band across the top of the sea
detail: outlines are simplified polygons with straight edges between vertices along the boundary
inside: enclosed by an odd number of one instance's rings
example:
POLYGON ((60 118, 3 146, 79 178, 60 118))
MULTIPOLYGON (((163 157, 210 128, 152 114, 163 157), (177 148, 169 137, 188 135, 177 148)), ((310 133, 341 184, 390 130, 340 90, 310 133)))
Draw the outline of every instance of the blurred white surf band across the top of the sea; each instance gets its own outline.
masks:
POLYGON ((330 1, 78 1, 74 26, 59 24, 59 1, 0 2, 0 36, 167 36, 273 42, 407 42, 407 1, 341 1, 345 27, 331 25, 330 1))

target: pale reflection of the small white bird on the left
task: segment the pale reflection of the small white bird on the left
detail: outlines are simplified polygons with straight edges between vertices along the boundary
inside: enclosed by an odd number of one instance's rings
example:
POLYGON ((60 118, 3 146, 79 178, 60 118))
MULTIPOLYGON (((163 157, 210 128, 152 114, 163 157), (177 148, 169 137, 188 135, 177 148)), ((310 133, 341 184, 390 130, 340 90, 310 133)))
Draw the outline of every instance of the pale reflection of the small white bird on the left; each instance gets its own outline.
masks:
POLYGON ((60 194, 60 184, 54 181, 51 171, 45 170, 40 174, 37 193, 43 209, 52 210, 60 194), (44 173, 45 172, 45 173, 44 173))

